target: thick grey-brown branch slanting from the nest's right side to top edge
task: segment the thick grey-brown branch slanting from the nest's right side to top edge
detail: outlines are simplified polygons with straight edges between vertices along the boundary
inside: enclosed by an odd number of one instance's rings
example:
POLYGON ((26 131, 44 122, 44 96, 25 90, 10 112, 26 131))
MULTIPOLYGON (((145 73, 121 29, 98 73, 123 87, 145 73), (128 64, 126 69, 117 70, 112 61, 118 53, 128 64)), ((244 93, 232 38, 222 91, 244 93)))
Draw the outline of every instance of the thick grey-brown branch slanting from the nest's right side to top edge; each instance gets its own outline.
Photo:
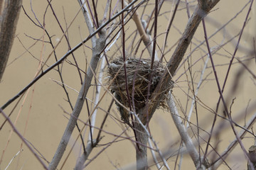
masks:
POLYGON ((186 29, 180 41, 178 42, 176 50, 174 51, 174 54, 169 60, 166 66, 166 70, 159 81, 159 84, 154 90, 154 95, 152 95, 150 98, 151 102, 149 102, 149 106, 145 106, 144 111, 142 111, 143 114, 140 115, 142 123, 146 123, 148 119, 151 119, 157 106, 159 106, 159 102, 162 100, 162 98, 164 98, 164 94, 161 92, 166 91, 166 84, 169 84, 171 82, 171 76, 174 76, 178 65, 181 63, 183 55, 185 54, 188 45, 190 44, 193 35, 196 32, 196 28, 198 28, 200 21, 207 15, 210 9, 212 9, 215 4, 218 3, 218 1, 219 0, 208 0, 208 2, 198 1, 198 6, 196 6, 196 10, 189 19, 186 29), (169 74, 171 74, 171 76, 169 74))

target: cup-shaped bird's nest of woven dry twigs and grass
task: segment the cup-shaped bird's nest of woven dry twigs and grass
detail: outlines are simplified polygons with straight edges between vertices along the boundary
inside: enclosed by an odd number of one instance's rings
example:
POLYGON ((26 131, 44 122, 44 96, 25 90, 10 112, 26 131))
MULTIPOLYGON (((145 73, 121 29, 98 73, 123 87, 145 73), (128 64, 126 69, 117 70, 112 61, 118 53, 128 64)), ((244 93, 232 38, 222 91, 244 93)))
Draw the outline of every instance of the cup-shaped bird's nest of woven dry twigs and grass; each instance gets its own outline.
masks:
MULTIPOLYGON (((153 69, 151 67, 151 60, 137 59, 137 58, 128 58, 125 62, 126 64, 126 74, 127 74, 127 84, 128 84, 128 93, 132 105, 132 99, 134 100, 135 110, 138 113, 139 109, 144 108, 146 105, 146 98, 149 94, 154 92, 161 75, 164 73, 164 66, 161 62, 154 62, 153 69), (149 79, 151 79, 151 86, 148 93, 149 79), (132 98, 132 91, 134 90, 134 97, 132 98)), ((125 107, 129 108, 129 101, 126 90, 126 80, 124 72, 124 61, 122 57, 119 57, 112 61, 109 66, 108 74, 110 81, 114 79, 110 85, 110 89, 117 100, 122 103, 125 107), (118 73, 118 74, 117 74, 118 73)), ((171 84, 166 84, 169 86, 167 91, 171 89, 171 84)), ((167 92, 166 91, 166 92, 167 92)), ((122 120, 125 123, 129 123, 129 113, 123 109, 118 103, 116 103, 122 120)), ((165 106, 164 100, 160 101, 160 106, 165 106)))

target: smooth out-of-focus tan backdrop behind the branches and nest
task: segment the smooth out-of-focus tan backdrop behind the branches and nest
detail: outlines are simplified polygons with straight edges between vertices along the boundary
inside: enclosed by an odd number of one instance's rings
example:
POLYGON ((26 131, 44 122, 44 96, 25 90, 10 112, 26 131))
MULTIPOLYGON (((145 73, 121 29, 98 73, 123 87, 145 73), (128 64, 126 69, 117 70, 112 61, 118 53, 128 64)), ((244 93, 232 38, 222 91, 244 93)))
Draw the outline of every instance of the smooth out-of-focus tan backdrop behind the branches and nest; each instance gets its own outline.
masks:
MULTIPOLYGON (((100 19, 102 19, 103 12, 105 11, 106 3, 107 1, 97 1, 97 14, 100 19)), ((188 0, 188 3, 191 15, 197 1, 188 0)), ((89 1, 89 4, 92 7, 91 1, 89 1)), ((159 49, 164 45, 166 27, 171 16, 170 12, 174 10, 175 4, 176 1, 164 1, 164 5, 159 12, 158 37, 156 39, 157 45, 159 46, 156 48, 156 52, 159 56, 161 55, 159 49)), ((51 5, 53 6, 55 16, 57 16, 59 23, 53 16, 53 12, 48 6, 48 1, 23 0, 23 8, 21 8, 18 19, 14 45, 11 49, 8 66, 6 67, 4 77, 0 84, 1 106, 33 80, 39 67, 39 61, 46 61, 46 59, 48 59, 50 52, 53 51, 53 47, 48 43, 48 35, 53 45, 57 45, 58 42, 60 42, 55 49, 55 56, 58 59, 68 52, 67 41, 65 38, 61 39, 63 32, 60 26, 63 30, 66 30, 70 26, 66 35, 71 48, 78 45, 78 43, 89 35, 85 18, 82 11, 79 11, 80 5, 78 1, 51 1, 51 5), (28 16, 30 18, 28 18, 28 16), (31 20, 33 20, 34 23, 31 20), (42 25, 45 29, 39 28, 36 25, 42 25)), ((250 1, 220 1, 206 17, 208 37, 213 35, 209 43, 211 50, 214 52, 213 60, 220 86, 222 86, 225 81, 228 64, 235 51, 239 33, 245 22, 249 6, 250 1)), ((256 74, 255 7, 255 3, 252 4, 252 11, 250 11, 250 17, 246 21, 247 23, 242 33, 240 46, 235 55, 245 66, 240 64, 238 60, 234 60, 225 86, 225 91, 223 92, 233 120, 240 126, 245 125, 252 115, 256 114, 255 107, 253 107, 255 105, 256 94, 256 79, 253 77, 253 74, 256 74), (250 72, 248 70, 250 70, 250 72)), ((117 1, 112 1, 111 13, 116 13, 119 9, 120 7, 117 1)), ((139 17, 142 17, 145 21, 149 21, 149 16, 153 9, 154 1, 148 1, 142 4, 138 9, 139 17)), ((152 18, 151 23, 149 23, 149 29, 152 27, 153 19, 154 18, 152 18)), ((119 20, 120 18, 117 18, 117 21, 119 20)), ((188 23, 186 1, 181 1, 176 11, 171 30, 169 31, 164 55, 165 60, 163 60, 164 64, 171 58, 176 44, 186 27, 186 23, 188 23)), ((113 25, 109 25, 108 29, 112 26, 113 25)), ((114 33, 117 33, 117 30, 114 30, 114 33)), ((131 19, 125 25, 127 54, 132 57, 140 57, 142 55, 144 58, 149 58, 149 52, 145 50, 144 44, 141 43, 138 47, 139 35, 136 33, 136 30, 136 25, 131 19), (136 52, 137 47, 138 50, 136 52)), ((114 36, 114 33, 110 35, 111 38, 114 36)), ((154 31, 152 31, 151 36, 153 36, 153 33, 154 31)), ((121 40, 122 38, 118 38, 110 50, 106 52, 110 62, 113 58, 122 55, 122 48, 120 48, 122 47, 121 40)), ((200 136, 202 151, 206 148, 206 142, 204 140, 208 140, 208 134, 215 115, 213 111, 215 111, 220 96, 213 74, 213 68, 208 59, 206 43, 204 42, 203 45, 198 47, 203 40, 205 40, 205 38, 201 24, 198 30, 196 30, 196 34, 194 35, 191 45, 188 47, 184 60, 173 78, 175 82, 173 94, 176 100, 176 107, 184 120, 188 118, 188 113, 192 111, 188 132, 193 140, 195 140, 197 135, 200 136), (208 63, 205 68, 207 61, 208 63), (204 70, 203 74, 202 70, 204 70), (193 88, 196 89, 199 81, 202 81, 202 83, 198 89, 196 98, 197 108, 195 110, 195 107, 191 106, 193 98, 191 91, 193 88), (198 120, 196 113, 198 114, 198 120), (199 134, 197 133, 197 126, 200 127, 199 134)), ((91 47, 92 45, 89 40, 82 47, 78 48, 78 50, 73 52, 73 56, 81 70, 80 74, 82 79, 84 79, 84 72, 88 68, 88 63, 92 55, 91 47)), ((47 69, 51 64, 56 62, 55 56, 50 55, 43 69, 47 69)), ((78 68, 74 66, 75 62, 73 56, 70 55, 59 67, 68 91, 70 103, 72 106, 75 106, 78 91, 80 91, 81 87, 81 77, 78 74, 78 68)), ((103 69, 100 69, 99 64, 96 74, 99 75, 100 73, 103 74, 100 86, 107 88, 106 64, 103 69)), ((88 110, 91 112, 95 107, 95 94, 97 94, 96 91, 99 90, 99 86, 96 86, 98 83, 96 79, 92 79, 92 86, 87 94, 88 104, 84 105, 82 113, 80 113, 81 121, 78 123, 80 128, 84 125, 82 121, 87 121, 88 110)), ((100 91, 98 91, 100 98, 104 94, 105 88, 101 88, 100 91)), ((102 125, 102 120, 105 117, 111 101, 112 96, 109 93, 102 97, 102 101, 100 101, 97 107, 95 127, 100 128, 100 125, 102 125)), ((31 89, 26 91, 26 94, 21 97, 21 101, 19 101, 16 106, 17 102, 18 99, 4 109, 4 112, 9 114, 14 109, 10 116, 11 121, 15 123, 17 130, 19 130, 21 135, 31 144, 35 152, 40 153, 44 159, 47 160, 45 161, 46 164, 48 164, 53 158, 68 123, 68 118, 70 118, 68 113, 72 113, 70 104, 67 101, 67 95, 61 85, 60 74, 56 69, 51 70, 38 80, 36 84, 31 86, 31 89)), ((223 111, 223 104, 220 102, 218 114, 223 116, 223 111)), ((4 123, 4 117, 2 115, 0 116, 0 123, 1 125, 4 123)), ((213 153, 212 147, 220 154, 230 145, 230 142, 235 140, 234 132, 230 128, 228 120, 218 117, 215 127, 215 135, 213 135, 213 139, 210 142, 210 151, 208 151, 209 162, 217 157, 213 153)), ((97 132, 99 131, 97 128, 95 129, 93 138, 97 137, 97 132)), ((103 127, 103 138, 99 145, 92 150, 89 159, 93 159, 93 161, 87 165, 86 169, 134 169, 134 164, 136 163, 135 147, 134 142, 130 140, 134 140, 133 131, 128 128, 128 130, 122 134, 122 137, 115 139, 118 135, 121 135, 125 128, 127 128, 127 126, 122 123, 117 111, 117 106, 114 104, 110 110, 110 116, 107 117, 103 127)), ((171 113, 167 108, 160 108, 154 113, 149 128, 159 149, 161 149, 162 152, 166 152, 165 157, 166 159, 168 158, 167 162, 171 169, 175 169, 175 167, 178 169, 178 165, 181 169, 194 167, 193 162, 186 153, 184 153, 182 158, 180 155, 177 157, 178 149, 181 145, 181 137, 178 135, 178 131, 171 119, 171 113)), ((235 128, 237 132, 242 130, 238 126, 235 128)), ((255 132, 254 126, 249 130, 255 132)), ((82 131, 82 135, 85 137, 85 144, 88 140, 89 131, 87 126, 85 130, 82 131)), ((82 152, 81 140, 78 134, 78 130, 75 129, 58 169, 63 165, 66 157, 68 157, 68 159, 63 169, 73 169, 75 167, 77 159, 82 152), (76 145, 72 149, 77 138, 78 142, 76 142, 76 145), (71 152, 70 149, 72 149, 71 152), (68 152, 70 152, 69 156, 68 152)), ((242 143, 245 149, 248 149, 251 145, 254 145, 255 137, 253 135, 245 135, 242 139, 242 143)), ((43 166, 41 166, 34 157, 33 153, 22 143, 16 133, 12 132, 9 123, 5 123, 0 131, 0 154, 0 169, 5 169, 14 157, 7 169, 43 169, 43 166), (18 155, 15 157, 17 153, 18 155)), ((152 161, 150 151, 148 155, 150 169, 157 169, 152 161)), ((228 165, 223 164, 219 169, 247 169, 247 159, 244 155, 238 145, 226 159, 228 165)))

